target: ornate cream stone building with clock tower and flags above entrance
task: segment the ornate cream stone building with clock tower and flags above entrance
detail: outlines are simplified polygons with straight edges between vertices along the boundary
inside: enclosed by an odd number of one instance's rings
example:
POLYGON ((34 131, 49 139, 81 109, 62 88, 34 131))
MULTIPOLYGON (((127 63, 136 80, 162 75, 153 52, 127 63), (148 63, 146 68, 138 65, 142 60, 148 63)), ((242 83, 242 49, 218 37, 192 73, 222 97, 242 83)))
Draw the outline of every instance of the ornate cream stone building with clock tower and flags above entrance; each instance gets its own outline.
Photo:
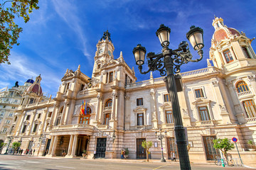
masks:
MULTIPOLYGON (((246 152, 247 140, 256 142, 252 39, 225 26, 222 18, 215 18, 213 27, 208 67, 181 73, 183 91, 178 98, 191 147, 189 157, 191 162, 213 160, 220 154, 213 148, 213 139, 237 137, 242 158, 252 161, 256 154, 246 152)), ((80 157, 84 150, 92 157, 96 150, 97 157, 119 158, 120 150, 128 148, 129 158, 144 159, 142 140, 151 140, 151 159, 159 159, 161 146, 155 132, 161 128, 166 131, 164 157, 170 159, 176 144, 164 78, 154 79, 151 74, 150 79, 136 82, 122 52, 114 59, 113 51, 110 33, 105 32, 97 43, 92 77, 80 72, 80 65, 75 71, 67 69, 55 98, 21 103, 12 142, 20 141, 22 149, 36 149, 46 157, 63 153, 80 157), (80 115, 82 101, 86 115, 80 115)), ((28 101, 31 95, 40 93, 33 91, 22 100, 28 101)), ((238 157, 235 149, 230 153, 238 157)))

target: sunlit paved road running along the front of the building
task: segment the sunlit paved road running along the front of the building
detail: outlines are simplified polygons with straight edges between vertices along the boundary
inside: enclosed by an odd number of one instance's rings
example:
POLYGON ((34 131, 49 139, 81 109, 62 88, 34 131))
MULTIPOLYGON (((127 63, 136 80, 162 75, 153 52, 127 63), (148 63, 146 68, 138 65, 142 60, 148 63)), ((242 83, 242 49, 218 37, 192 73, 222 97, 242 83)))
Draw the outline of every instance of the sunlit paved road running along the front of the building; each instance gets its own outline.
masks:
MULTIPOLYGON (((239 167, 221 167, 211 164, 191 164, 192 169, 212 170, 212 169, 246 169, 239 167)), ((28 157, 18 155, 0 154, 0 169, 26 169, 26 170, 167 170, 179 169, 178 162, 143 162, 142 160, 131 159, 65 159, 61 157, 28 157)))

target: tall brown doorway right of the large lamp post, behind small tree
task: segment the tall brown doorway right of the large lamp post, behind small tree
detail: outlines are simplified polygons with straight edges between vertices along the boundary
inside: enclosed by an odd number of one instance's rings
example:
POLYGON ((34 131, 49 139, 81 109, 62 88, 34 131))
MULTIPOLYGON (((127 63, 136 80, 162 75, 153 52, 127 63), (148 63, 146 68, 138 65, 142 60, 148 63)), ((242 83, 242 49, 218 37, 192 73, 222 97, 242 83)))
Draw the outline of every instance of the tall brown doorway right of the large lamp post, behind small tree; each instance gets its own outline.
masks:
POLYGON ((217 149, 213 147, 213 140, 215 139, 215 136, 203 136, 203 145, 205 147, 207 160, 214 160, 215 157, 220 156, 217 149))

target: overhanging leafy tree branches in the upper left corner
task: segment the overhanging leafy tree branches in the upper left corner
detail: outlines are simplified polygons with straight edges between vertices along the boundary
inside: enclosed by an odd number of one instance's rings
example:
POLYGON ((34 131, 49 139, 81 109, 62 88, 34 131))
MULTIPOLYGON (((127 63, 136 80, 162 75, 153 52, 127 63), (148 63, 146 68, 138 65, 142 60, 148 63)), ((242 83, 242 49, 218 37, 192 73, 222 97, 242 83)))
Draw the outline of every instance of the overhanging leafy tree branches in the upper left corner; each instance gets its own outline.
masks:
POLYGON ((22 28, 19 27, 14 19, 15 16, 22 17, 24 22, 29 21, 29 13, 33 9, 38 9, 38 0, 6 0, 0 3, 0 64, 9 62, 10 50, 17 42, 22 28))

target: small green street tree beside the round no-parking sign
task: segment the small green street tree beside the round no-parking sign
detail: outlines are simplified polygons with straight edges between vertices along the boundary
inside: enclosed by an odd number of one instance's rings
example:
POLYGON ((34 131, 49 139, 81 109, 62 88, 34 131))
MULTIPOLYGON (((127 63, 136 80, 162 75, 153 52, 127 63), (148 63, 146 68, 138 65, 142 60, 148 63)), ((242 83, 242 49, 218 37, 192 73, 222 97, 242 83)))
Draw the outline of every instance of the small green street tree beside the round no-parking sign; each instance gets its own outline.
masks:
POLYGON ((234 148, 234 144, 230 143, 230 140, 228 138, 225 139, 218 139, 218 140, 213 140, 213 147, 216 149, 220 149, 221 152, 223 152, 225 159, 227 160, 228 163, 228 151, 234 148))

